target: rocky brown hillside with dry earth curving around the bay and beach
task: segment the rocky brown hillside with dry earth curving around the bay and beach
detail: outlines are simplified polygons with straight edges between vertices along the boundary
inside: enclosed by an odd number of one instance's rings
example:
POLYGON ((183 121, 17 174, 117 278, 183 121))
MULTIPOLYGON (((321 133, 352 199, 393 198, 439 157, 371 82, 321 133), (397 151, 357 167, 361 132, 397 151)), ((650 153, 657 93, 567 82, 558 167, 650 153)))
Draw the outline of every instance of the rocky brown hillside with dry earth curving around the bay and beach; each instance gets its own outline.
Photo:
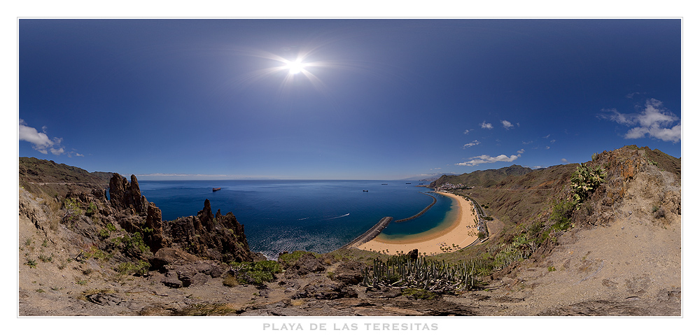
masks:
POLYGON ((377 262, 417 253, 268 261, 248 250, 246 222, 205 199, 162 221, 134 176, 20 159, 19 315, 680 315, 680 158, 628 146, 528 170, 441 178, 470 187, 451 192, 479 205, 489 234, 420 257, 475 270, 467 288, 432 290, 367 285, 377 262))

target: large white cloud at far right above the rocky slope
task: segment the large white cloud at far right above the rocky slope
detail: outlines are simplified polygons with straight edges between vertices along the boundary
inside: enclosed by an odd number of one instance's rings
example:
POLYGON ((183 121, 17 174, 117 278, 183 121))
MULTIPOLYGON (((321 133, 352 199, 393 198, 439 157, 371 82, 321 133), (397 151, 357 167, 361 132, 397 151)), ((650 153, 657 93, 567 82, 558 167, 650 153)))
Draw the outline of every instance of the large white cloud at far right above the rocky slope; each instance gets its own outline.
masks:
POLYGON ((648 99, 644 110, 639 114, 622 114, 615 108, 603 109, 607 115, 603 119, 615 121, 626 126, 637 126, 629 129, 624 138, 643 138, 649 136, 661 141, 680 141, 680 117, 668 111, 664 104, 657 99, 648 99), (678 124, 674 124, 678 122, 678 124))

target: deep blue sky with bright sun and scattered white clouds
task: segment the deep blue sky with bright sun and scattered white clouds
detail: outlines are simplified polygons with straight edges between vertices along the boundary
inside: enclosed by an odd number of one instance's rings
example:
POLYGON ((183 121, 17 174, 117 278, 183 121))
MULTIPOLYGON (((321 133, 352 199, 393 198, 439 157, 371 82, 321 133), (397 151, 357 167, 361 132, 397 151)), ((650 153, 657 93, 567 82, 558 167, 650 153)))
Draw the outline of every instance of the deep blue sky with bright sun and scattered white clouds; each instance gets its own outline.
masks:
POLYGON ((19 155, 88 171, 392 179, 585 162, 629 144, 681 156, 677 19, 18 29, 19 155))

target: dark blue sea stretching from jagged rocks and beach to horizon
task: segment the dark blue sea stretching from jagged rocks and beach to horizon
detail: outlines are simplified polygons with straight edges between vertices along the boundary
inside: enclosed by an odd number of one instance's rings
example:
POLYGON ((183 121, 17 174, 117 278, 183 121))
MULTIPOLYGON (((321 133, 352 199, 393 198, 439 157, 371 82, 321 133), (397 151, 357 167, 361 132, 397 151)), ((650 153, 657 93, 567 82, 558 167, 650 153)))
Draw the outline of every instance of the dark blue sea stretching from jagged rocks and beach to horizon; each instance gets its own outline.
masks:
MULTIPOLYGON (((349 243, 381 218, 409 218, 433 198, 418 181, 380 180, 139 180, 141 194, 160 207, 163 220, 197 215, 204 199, 211 209, 232 212, 244 225, 253 252, 330 252, 349 243), (407 184, 410 183, 410 184, 407 184), (387 185, 382 185, 387 184, 387 185), (213 187, 221 187, 212 192, 213 187), (363 192, 367 190, 369 192, 363 192)), ((421 217, 392 222, 385 238, 418 234, 441 224, 452 200, 440 194, 421 217)))

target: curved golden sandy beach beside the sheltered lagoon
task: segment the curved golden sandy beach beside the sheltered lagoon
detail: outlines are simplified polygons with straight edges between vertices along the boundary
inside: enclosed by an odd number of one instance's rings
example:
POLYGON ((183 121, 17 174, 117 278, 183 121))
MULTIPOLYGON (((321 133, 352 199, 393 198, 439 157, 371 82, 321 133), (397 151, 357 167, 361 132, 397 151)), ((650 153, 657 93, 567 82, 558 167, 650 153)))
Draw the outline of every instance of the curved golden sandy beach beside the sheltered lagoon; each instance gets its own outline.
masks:
POLYGON ((472 210, 470 201, 463 197, 457 197, 454 194, 446 192, 437 192, 446 197, 456 199, 458 201, 459 211, 456 213, 454 221, 447 227, 436 227, 426 233, 417 234, 416 236, 406 236, 400 239, 382 238, 381 234, 367 243, 356 245, 356 248, 361 250, 386 250, 389 255, 395 255, 397 252, 407 253, 411 250, 418 249, 418 252, 427 255, 437 255, 446 251, 445 248, 450 248, 452 245, 458 245, 458 248, 452 248, 451 251, 458 250, 470 245, 477 240, 477 224, 475 222, 476 215, 472 210), (442 250, 440 249, 442 248, 442 250))

